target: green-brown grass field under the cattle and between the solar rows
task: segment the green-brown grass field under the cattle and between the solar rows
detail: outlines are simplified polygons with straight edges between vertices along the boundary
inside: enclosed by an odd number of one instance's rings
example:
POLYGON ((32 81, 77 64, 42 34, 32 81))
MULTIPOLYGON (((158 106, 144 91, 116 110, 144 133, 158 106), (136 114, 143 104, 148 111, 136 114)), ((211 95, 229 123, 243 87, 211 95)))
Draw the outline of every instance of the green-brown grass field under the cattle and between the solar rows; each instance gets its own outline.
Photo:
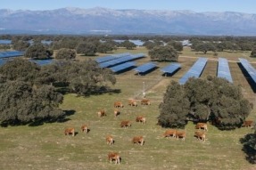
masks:
MULTIPOLYGON (((115 53, 127 52, 119 49, 115 53)), ((133 50, 130 53, 146 53, 145 48, 133 50)), ((226 53, 221 54, 226 57, 226 53)), ((237 61, 239 55, 234 53, 226 57, 228 61, 237 61)), ((78 97, 67 94, 61 105, 62 109, 75 110, 70 120, 63 123, 52 123, 39 126, 9 126, 0 130, 0 169, 230 169, 252 170, 256 166, 245 160, 239 139, 245 134, 253 133, 250 128, 240 128, 233 131, 219 131, 209 126, 206 142, 194 139, 194 125, 186 125, 186 141, 164 139, 162 134, 166 129, 157 123, 159 104, 162 101, 167 85, 171 80, 178 81, 180 77, 196 61, 195 54, 185 49, 180 54, 179 62, 182 69, 173 77, 162 77, 159 69, 146 76, 136 76, 134 71, 117 75, 117 84, 113 89, 120 93, 78 97), (141 99, 145 82, 146 98, 152 101, 150 106, 138 105, 137 108, 128 106, 128 98, 141 99), (113 116, 113 102, 123 101, 125 107, 120 109, 120 116, 113 116), (96 112, 105 109, 107 117, 97 117, 96 112), (145 116, 146 125, 135 122, 136 116, 145 116), (121 120, 131 120, 131 128, 120 128, 121 120), (82 134, 80 126, 87 124, 90 132, 82 134), (65 127, 75 127, 78 134, 75 137, 65 136, 65 127), (114 137, 114 145, 107 145, 105 136, 114 137), (145 145, 133 144, 135 135, 145 137, 145 145), (107 160, 109 151, 120 153, 120 165, 110 164, 107 160)), ((220 56, 220 55, 219 55, 220 56)), ((206 55, 208 61, 202 77, 216 75, 217 57, 206 55)), ((84 58, 80 56, 80 58, 84 58)), ((251 59, 250 59, 251 60, 251 59)), ((149 61, 149 58, 136 61, 138 64, 149 61)), ((159 67, 169 63, 161 62, 159 67)), ((241 85, 244 96, 255 105, 255 93, 246 81, 236 62, 229 62, 235 85, 241 85)), ((254 65, 255 66, 255 65, 254 65)), ((250 117, 255 119, 255 109, 250 117)))

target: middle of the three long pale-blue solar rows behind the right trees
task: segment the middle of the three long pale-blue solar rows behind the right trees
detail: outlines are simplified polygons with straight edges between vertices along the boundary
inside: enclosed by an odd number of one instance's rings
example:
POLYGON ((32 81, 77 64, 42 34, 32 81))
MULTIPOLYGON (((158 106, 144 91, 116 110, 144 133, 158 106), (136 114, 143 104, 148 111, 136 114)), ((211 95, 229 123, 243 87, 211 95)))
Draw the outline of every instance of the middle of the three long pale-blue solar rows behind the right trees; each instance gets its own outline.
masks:
POLYGON ((217 77, 225 78, 230 83, 233 83, 227 59, 219 58, 217 77))

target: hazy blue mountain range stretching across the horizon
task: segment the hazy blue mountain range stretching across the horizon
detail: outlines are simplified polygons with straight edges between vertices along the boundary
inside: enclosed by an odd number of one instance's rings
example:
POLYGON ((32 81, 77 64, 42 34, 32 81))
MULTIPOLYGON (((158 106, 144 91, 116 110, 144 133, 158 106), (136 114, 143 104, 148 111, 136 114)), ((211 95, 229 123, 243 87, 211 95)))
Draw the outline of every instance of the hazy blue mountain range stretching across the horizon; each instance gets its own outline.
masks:
POLYGON ((256 14, 62 8, 0 9, 0 34, 256 36, 256 14))

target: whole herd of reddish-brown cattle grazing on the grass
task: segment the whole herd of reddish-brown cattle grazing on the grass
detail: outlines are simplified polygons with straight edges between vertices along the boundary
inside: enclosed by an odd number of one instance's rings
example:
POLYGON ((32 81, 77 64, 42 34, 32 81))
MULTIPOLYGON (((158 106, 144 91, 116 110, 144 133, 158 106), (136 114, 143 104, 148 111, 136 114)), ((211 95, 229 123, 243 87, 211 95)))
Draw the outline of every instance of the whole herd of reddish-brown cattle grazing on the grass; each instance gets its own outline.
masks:
MULTIPOLYGON (((148 99, 143 99, 141 100, 141 104, 142 105, 151 105, 150 100, 148 99)), ((128 105, 129 106, 134 106, 137 107, 137 102, 136 100, 128 100, 128 105)), ((114 117, 117 117, 120 115, 120 110, 118 108, 123 108, 124 105, 122 104, 121 101, 116 101, 114 102, 114 117)), ((97 112, 97 116, 98 117, 104 117, 106 116, 106 112, 104 109, 101 109, 97 112)), ((146 124, 146 118, 143 116, 138 116, 136 117, 136 122, 140 122, 142 124, 146 124)), ((253 125, 253 121, 252 120, 245 120, 244 124, 242 126, 244 127, 252 127, 253 125)), ((120 127, 131 127, 131 121, 129 120, 123 120, 120 122, 120 127)), ((201 141, 201 142, 205 142, 206 141, 206 132, 208 131, 208 127, 206 123, 197 123, 194 126, 195 129, 197 129, 194 132, 194 137, 201 141)), ((87 125, 82 125, 81 126, 81 131, 83 133, 88 133, 89 129, 87 125)), ((65 129, 64 134, 65 135, 72 135, 75 136, 75 128, 73 127, 68 127, 65 129)), ((172 138, 176 138, 176 139, 181 139, 183 141, 185 141, 186 139, 186 131, 184 130, 177 130, 177 129, 168 129, 165 131, 165 133, 163 134, 164 138, 167 137, 172 137, 172 138)), ((107 135, 106 138, 106 143, 109 145, 114 144, 114 139, 112 135, 107 135)), ((134 136, 131 140, 132 143, 136 143, 136 144, 140 144, 140 145, 144 145, 145 143, 145 139, 143 136, 134 136)), ((108 154, 108 159, 110 162, 114 161, 115 164, 120 164, 120 154, 117 152, 109 152, 108 154)))

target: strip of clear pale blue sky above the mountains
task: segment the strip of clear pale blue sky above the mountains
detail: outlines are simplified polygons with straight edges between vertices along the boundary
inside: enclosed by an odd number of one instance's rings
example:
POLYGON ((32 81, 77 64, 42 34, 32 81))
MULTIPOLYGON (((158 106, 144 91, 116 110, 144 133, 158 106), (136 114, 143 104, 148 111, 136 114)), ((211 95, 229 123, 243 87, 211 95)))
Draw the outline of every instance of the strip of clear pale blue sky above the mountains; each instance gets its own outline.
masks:
POLYGON ((193 12, 256 13, 256 0, 1 0, 0 9, 54 10, 65 7, 193 12))

